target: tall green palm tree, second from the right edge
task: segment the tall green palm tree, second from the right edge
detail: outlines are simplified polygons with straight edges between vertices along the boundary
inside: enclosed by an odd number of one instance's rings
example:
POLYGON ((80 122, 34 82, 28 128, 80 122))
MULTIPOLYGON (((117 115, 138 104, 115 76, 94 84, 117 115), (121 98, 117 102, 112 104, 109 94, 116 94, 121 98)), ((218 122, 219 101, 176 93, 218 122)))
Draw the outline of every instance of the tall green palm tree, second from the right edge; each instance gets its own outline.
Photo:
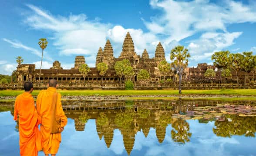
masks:
POLYGON ((229 55, 231 60, 230 68, 233 71, 236 71, 236 86, 239 86, 239 78, 238 78, 238 72, 242 70, 242 62, 243 62, 243 55, 236 53, 236 54, 230 54, 229 55))

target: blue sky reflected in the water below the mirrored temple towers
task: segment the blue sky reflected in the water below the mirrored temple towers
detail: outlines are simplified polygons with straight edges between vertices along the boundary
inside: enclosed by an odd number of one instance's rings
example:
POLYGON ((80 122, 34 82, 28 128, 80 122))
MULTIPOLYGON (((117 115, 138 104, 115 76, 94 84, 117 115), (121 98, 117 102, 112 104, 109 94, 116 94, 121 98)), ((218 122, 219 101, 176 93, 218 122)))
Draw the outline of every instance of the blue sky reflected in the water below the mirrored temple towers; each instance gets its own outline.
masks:
MULTIPOLYGON (((135 136, 135 143, 131 155, 146 156, 254 156, 256 155, 256 138, 232 136, 218 137, 212 132, 214 121, 199 123, 198 120, 187 120, 192 133, 191 140, 185 145, 172 141, 171 125, 166 128, 165 140, 158 143, 155 129, 150 128, 147 138, 142 131, 135 136)), ((0 113, 0 156, 19 155, 19 135, 15 131, 16 122, 9 112, 0 113)), ((88 120, 84 131, 75 131, 74 120, 68 119, 67 126, 62 133, 62 143, 59 156, 109 156, 127 155, 121 132, 114 130, 114 137, 108 149, 104 136, 100 140, 96 131, 95 120, 88 120)), ((39 156, 44 156, 40 152, 39 156)))

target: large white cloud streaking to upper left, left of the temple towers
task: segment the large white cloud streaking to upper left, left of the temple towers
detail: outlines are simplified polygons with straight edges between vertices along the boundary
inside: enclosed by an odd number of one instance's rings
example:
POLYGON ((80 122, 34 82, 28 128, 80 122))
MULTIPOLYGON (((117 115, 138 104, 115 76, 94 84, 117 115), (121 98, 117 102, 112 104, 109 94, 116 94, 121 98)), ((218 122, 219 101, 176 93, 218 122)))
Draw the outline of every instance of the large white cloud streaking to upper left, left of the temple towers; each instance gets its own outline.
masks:
MULTIPOLYGON (((87 20, 86 15, 53 16, 34 5, 27 5, 32 13, 24 20, 33 29, 52 31, 54 46, 60 55, 97 55, 99 46, 106 42, 110 24, 100 23, 98 19, 87 20)), ((95 60, 86 60, 89 63, 95 60)))

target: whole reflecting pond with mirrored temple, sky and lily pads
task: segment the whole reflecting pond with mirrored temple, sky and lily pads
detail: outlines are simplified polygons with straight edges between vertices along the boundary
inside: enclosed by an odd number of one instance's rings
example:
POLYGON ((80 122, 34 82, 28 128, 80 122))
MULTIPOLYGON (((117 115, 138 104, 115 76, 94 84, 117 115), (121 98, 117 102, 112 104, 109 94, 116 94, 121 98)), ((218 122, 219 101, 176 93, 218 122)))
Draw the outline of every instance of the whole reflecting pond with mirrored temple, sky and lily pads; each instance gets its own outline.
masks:
MULTIPOLYGON (((0 104, 0 155, 19 155, 13 104, 0 104)), ((60 156, 253 156, 256 101, 64 101, 60 156)), ((39 156, 44 156, 40 152, 39 156)))

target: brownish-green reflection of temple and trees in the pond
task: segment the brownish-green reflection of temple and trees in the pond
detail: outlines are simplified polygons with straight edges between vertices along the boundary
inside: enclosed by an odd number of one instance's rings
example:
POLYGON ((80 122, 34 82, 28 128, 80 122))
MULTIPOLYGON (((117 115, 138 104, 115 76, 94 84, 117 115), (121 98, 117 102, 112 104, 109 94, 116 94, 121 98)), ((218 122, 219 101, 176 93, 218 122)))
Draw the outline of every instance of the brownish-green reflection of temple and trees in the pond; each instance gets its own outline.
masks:
MULTIPOLYGON (((162 143, 168 124, 172 126, 174 142, 189 142, 193 134, 187 120, 198 120, 202 124, 214 121, 212 131, 216 136, 255 137, 256 132, 256 108, 255 102, 251 101, 66 101, 63 109, 66 116, 74 120, 76 131, 86 130, 87 121, 94 119, 98 137, 104 139, 108 148, 113 141, 114 130, 120 130, 128 155, 137 132, 142 131, 147 137, 150 128, 154 128, 158 142, 162 143)), ((8 110, 13 114, 13 107, 1 107, 1 111, 8 110)))

